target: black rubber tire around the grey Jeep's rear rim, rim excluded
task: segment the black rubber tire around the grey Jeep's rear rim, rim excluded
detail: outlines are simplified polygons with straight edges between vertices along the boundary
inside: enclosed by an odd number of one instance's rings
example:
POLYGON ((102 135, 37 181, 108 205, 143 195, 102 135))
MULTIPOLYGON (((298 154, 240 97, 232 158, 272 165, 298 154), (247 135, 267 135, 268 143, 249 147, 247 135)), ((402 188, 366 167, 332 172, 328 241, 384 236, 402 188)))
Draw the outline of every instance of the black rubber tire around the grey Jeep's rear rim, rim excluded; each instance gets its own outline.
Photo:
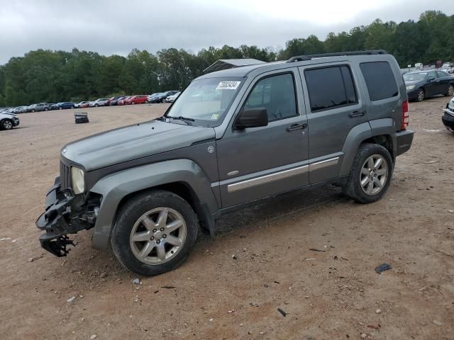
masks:
POLYGON ((387 149, 377 144, 362 144, 360 145, 355 159, 353 160, 352 168, 350 169, 350 174, 348 175, 347 184, 343 187, 343 193, 345 194, 345 196, 352 198, 358 203, 374 203, 377 200, 380 200, 380 198, 382 198, 384 193, 386 193, 386 191, 388 190, 389 183, 391 183, 393 168, 394 164, 392 162, 392 157, 387 149), (386 161, 387 165, 387 174, 383 186, 380 191, 373 195, 365 193, 364 189, 361 186, 361 176, 365 176, 361 172, 362 166, 363 164, 365 165, 367 159, 369 159, 372 155, 380 155, 386 161))

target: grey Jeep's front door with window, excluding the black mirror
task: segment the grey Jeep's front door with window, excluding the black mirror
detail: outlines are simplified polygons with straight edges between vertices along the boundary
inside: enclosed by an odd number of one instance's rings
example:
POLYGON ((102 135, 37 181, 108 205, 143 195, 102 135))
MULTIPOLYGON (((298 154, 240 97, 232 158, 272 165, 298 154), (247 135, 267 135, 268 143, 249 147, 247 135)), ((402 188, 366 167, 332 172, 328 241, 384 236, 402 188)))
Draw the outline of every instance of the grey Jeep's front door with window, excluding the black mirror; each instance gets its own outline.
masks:
POLYGON ((236 114, 248 108, 266 108, 269 123, 238 130, 233 119, 216 142, 223 208, 309 183, 307 118, 297 70, 258 77, 236 114))

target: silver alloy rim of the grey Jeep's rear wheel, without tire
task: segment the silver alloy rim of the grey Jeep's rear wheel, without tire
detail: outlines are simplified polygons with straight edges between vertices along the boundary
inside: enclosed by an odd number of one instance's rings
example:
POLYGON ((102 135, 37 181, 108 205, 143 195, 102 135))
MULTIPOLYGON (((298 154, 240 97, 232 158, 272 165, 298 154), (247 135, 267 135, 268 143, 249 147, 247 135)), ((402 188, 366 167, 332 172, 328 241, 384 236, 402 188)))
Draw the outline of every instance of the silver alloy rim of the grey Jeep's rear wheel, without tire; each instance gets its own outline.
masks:
POLYGON ((362 164, 361 188, 367 195, 376 195, 382 191, 388 177, 388 164, 380 154, 372 154, 362 164))

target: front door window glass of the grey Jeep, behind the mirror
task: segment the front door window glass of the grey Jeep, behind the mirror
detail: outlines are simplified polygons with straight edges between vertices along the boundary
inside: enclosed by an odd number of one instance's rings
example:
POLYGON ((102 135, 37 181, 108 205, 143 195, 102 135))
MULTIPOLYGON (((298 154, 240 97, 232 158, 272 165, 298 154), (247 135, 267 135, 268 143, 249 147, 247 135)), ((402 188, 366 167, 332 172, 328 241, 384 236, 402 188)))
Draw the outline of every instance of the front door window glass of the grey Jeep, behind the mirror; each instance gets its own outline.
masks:
POLYGON ((279 74, 258 81, 245 101, 244 109, 266 108, 268 121, 298 115, 292 74, 279 74))

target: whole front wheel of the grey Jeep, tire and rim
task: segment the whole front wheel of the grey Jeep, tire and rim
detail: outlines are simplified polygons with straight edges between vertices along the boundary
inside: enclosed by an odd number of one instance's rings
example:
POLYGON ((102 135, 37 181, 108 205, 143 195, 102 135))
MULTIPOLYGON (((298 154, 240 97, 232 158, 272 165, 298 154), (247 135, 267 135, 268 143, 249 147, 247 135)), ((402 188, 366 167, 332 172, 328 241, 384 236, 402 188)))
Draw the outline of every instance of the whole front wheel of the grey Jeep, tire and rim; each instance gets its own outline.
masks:
POLYGON ((189 203, 175 193, 153 191, 121 207, 111 244, 125 268, 153 276, 177 268, 192 250, 198 232, 189 203))

